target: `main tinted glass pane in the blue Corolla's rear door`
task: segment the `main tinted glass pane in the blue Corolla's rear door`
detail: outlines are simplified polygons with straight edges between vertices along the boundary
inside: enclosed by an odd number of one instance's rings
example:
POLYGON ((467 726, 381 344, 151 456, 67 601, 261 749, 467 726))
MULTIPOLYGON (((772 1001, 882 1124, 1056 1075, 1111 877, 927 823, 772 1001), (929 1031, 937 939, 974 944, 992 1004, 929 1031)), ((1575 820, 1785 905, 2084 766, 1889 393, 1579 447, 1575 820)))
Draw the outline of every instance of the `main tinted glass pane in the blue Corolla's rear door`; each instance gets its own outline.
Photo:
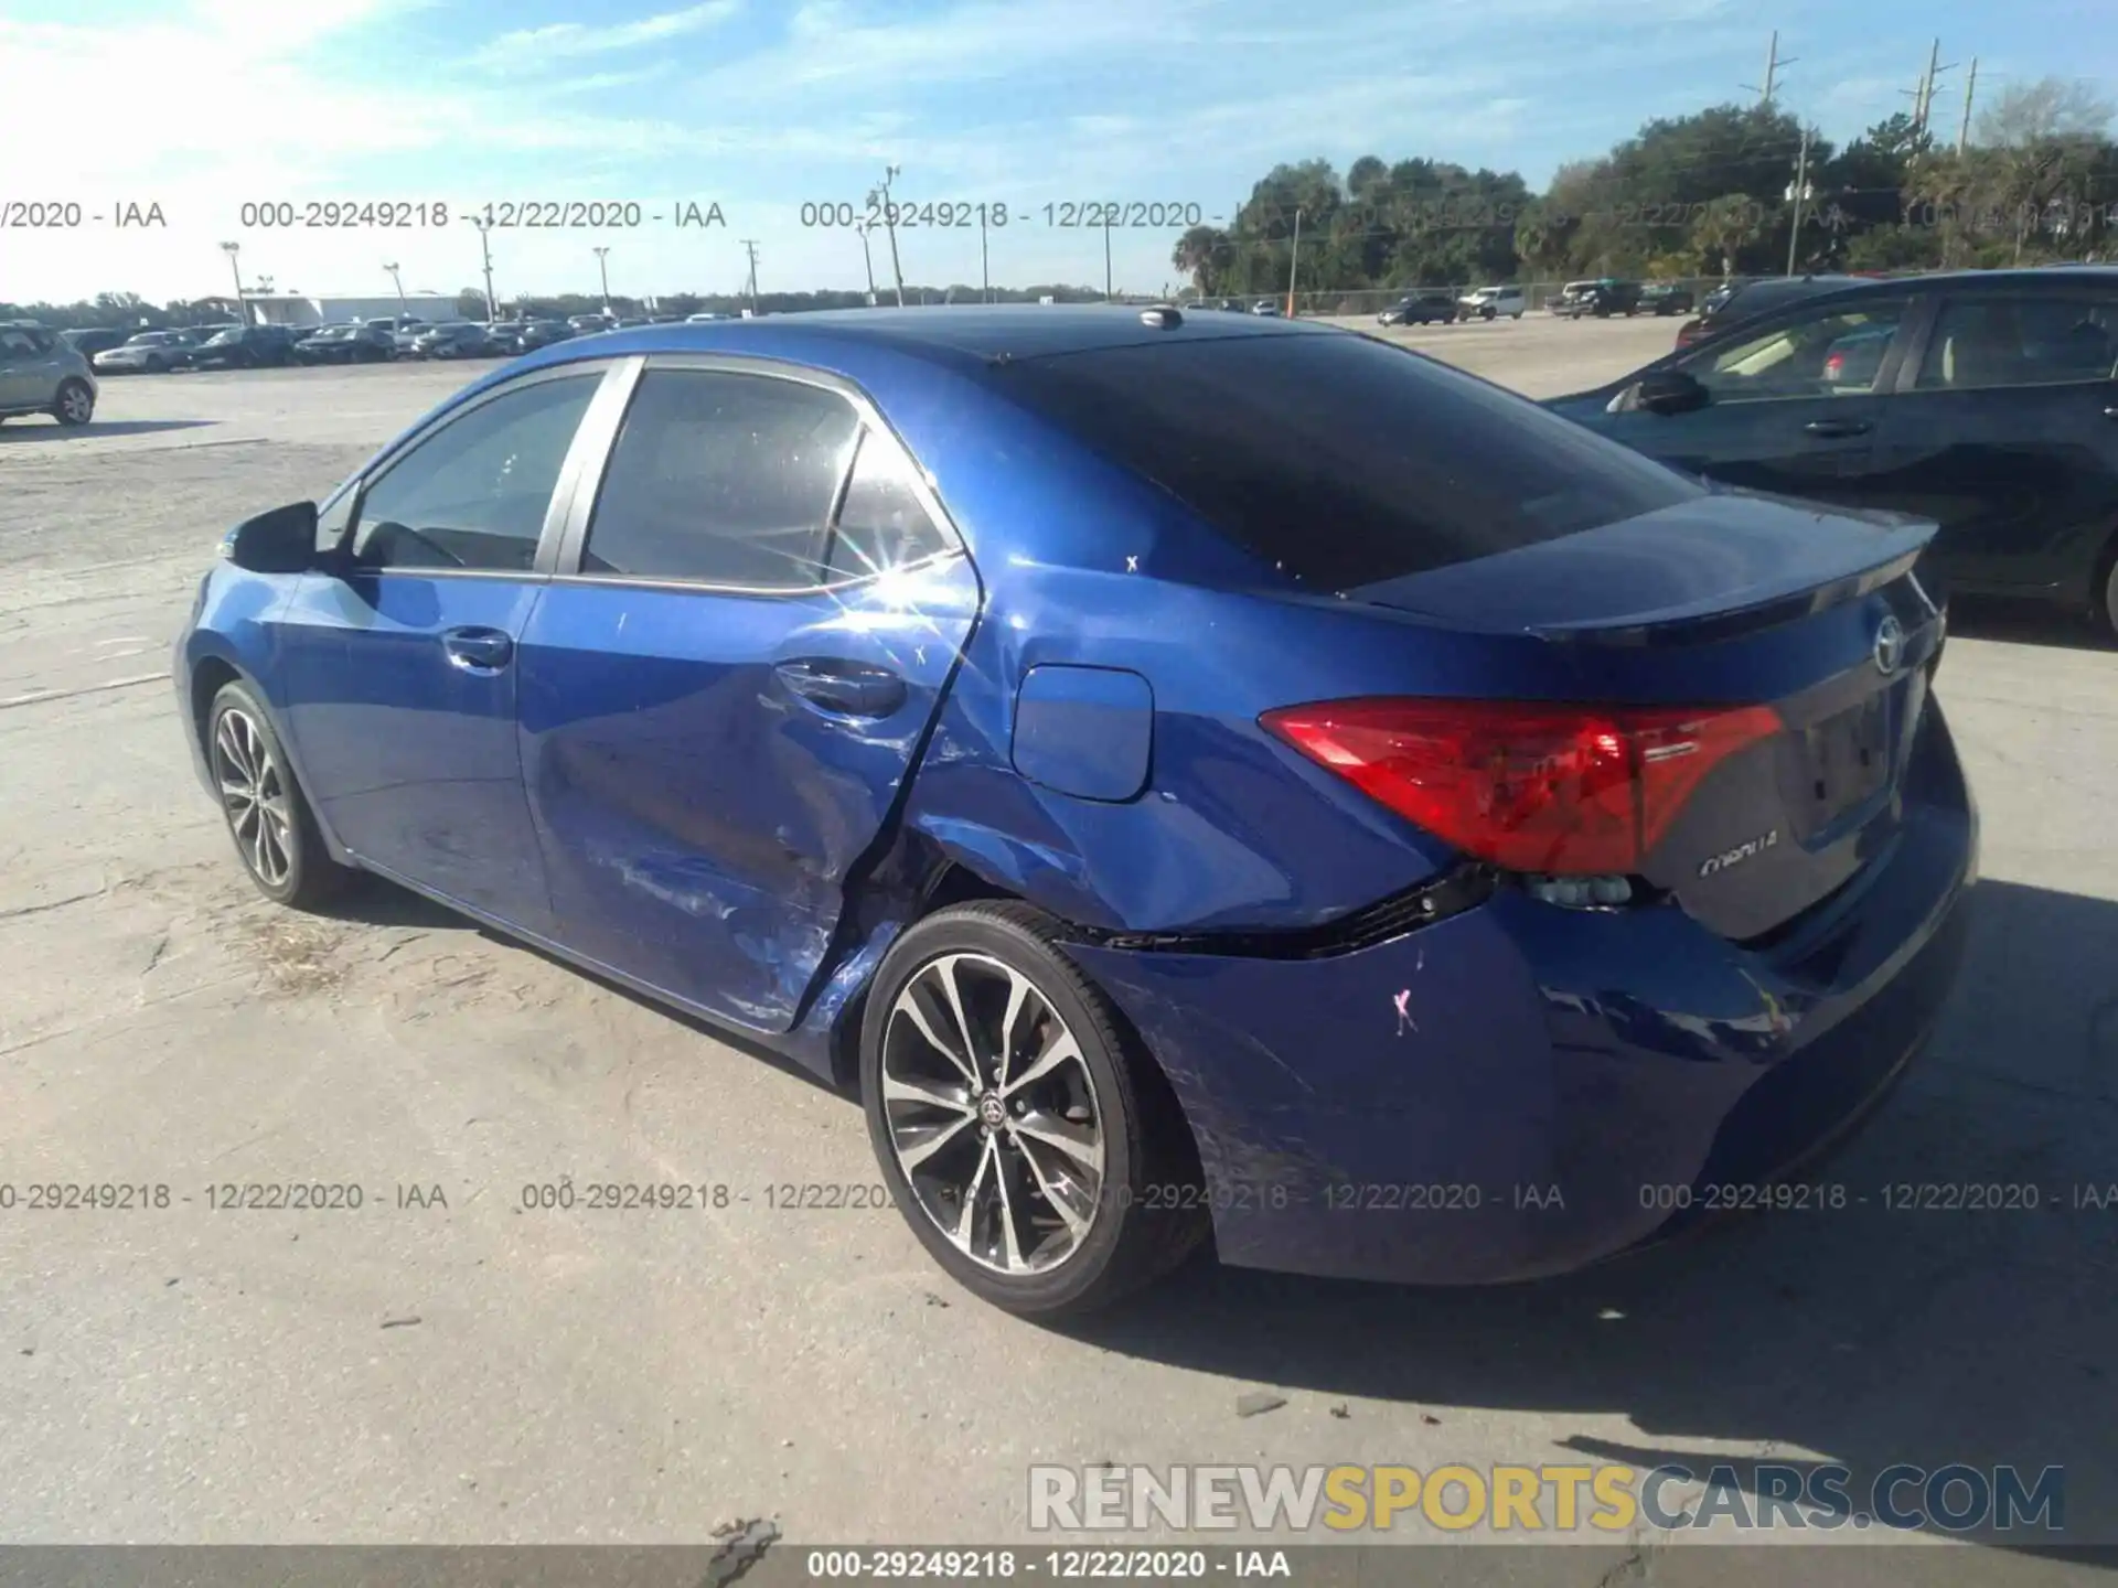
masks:
POLYGON ((858 428, 845 398, 801 381, 648 371, 610 451, 580 572, 746 591, 822 582, 858 428))

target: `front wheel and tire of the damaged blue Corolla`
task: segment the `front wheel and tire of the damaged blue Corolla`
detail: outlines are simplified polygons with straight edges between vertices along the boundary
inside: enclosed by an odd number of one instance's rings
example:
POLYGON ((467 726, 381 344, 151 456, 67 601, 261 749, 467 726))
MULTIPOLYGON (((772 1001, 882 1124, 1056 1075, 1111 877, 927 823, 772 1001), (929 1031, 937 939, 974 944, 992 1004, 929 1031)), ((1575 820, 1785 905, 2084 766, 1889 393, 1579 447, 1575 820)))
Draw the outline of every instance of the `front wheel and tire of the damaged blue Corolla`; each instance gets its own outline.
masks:
POLYGON ((330 858, 280 735, 248 684, 222 684, 205 711, 205 764, 250 881, 273 904, 313 910, 352 879, 330 858))

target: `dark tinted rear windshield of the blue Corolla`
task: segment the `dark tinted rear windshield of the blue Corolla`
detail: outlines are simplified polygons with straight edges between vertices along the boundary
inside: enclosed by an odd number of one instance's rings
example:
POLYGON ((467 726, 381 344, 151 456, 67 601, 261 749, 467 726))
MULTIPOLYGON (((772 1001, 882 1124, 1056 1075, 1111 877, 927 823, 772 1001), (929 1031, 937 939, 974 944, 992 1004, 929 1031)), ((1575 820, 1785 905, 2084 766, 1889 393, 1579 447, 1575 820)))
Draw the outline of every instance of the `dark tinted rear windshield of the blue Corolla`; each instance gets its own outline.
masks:
POLYGON ((1703 493, 1527 398, 1351 332, 1023 358, 993 381, 1317 589, 1466 563, 1703 493))

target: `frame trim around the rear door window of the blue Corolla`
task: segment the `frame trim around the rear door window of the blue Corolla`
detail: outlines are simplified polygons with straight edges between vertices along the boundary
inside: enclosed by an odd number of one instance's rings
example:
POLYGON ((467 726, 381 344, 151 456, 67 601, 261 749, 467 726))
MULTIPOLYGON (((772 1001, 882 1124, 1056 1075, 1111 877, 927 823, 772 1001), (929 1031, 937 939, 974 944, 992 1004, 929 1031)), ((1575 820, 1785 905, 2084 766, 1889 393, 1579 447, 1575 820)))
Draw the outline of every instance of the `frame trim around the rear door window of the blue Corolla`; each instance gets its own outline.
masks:
MULTIPOLYGON (((553 584, 595 584, 608 587, 618 584, 627 589, 644 591, 686 591, 693 595, 741 595, 750 599, 807 599, 813 595, 832 595, 837 591, 851 591, 862 584, 873 584, 883 578, 883 574, 860 574, 858 578, 843 578, 815 584, 775 584, 760 589, 756 584, 720 584, 703 578, 671 578, 671 576, 642 576, 642 574, 606 574, 580 567, 580 555, 589 544, 589 521, 595 517, 595 502, 604 489, 604 472, 610 468, 610 457, 616 451, 618 430, 625 423, 625 413, 631 409, 633 392, 648 371, 684 371, 703 375, 752 375, 777 381, 792 381, 794 385, 813 385, 822 392, 830 392, 847 407, 854 409, 856 421, 856 445, 847 453, 845 468, 839 474, 839 483, 830 493, 830 517, 824 521, 826 548, 837 540, 839 534, 839 512, 845 506, 845 491, 854 479, 854 466, 860 459, 860 447, 868 440, 877 440, 887 447, 898 449, 898 457, 909 464, 913 495, 919 506, 932 519, 934 527, 943 536, 943 548, 930 557, 921 557, 915 563, 907 563, 900 570, 890 570, 890 574, 909 574, 913 570, 934 567, 951 557, 964 557, 966 544, 964 534, 957 529, 955 519, 943 506, 940 493, 934 489, 934 481, 921 466, 919 457, 911 447, 904 445, 904 436, 883 417, 875 400, 854 381, 832 375, 830 371, 811 368, 809 364, 792 364, 782 358, 754 358, 741 354, 646 354, 627 360, 629 371, 625 373, 625 394, 612 402, 608 415, 608 434, 602 436, 595 455, 582 466, 580 474, 574 479, 572 498, 568 500, 568 515, 563 529, 559 534, 553 567, 549 580, 553 584)), ((602 398, 602 394, 597 394, 602 398)), ((595 415, 591 413, 591 419, 595 415)), ((582 421, 582 434, 589 432, 589 421, 582 421)), ((549 525, 546 525, 549 531, 549 525)))

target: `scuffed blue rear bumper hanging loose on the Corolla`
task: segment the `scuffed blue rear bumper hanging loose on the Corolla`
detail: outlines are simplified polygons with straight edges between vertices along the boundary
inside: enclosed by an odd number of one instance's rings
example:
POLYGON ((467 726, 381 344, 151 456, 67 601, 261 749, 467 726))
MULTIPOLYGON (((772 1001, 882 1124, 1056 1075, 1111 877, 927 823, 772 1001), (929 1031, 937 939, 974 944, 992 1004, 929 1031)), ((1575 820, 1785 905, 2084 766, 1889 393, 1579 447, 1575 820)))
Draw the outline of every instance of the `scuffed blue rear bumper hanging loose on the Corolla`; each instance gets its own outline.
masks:
MULTIPOLYGON (((1771 951, 1675 908, 1508 889, 1326 959, 1070 953, 1169 1076, 1224 1262, 1434 1285, 1565 1273, 1754 1205, 1927 1040, 1963 957, 1978 817, 1938 716, 1923 739, 1938 802, 1771 951)), ((1788 1196, 1796 1217, 1832 1192, 1788 1196)))

